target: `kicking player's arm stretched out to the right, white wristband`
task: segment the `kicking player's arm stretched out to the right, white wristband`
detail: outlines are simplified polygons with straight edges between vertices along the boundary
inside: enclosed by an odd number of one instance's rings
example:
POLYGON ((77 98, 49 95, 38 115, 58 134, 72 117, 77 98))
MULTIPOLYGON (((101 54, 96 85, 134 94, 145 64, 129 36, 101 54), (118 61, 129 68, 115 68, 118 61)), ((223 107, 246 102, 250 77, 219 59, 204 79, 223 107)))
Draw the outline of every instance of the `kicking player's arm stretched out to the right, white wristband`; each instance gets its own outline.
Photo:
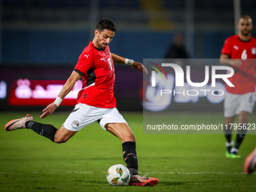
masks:
POLYGON ((114 63, 124 63, 130 66, 133 66, 133 69, 139 70, 141 72, 145 72, 148 74, 148 70, 145 68, 145 66, 142 65, 141 62, 133 61, 133 59, 126 59, 123 56, 117 56, 114 53, 111 53, 112 59, 114 63))

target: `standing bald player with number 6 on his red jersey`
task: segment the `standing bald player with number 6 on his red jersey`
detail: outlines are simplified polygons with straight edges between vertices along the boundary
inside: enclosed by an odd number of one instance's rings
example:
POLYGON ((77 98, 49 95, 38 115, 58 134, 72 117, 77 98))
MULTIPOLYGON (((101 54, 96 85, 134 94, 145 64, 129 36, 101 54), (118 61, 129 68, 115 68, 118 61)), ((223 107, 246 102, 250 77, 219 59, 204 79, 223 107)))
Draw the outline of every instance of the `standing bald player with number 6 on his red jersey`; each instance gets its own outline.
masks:
MULTIPOLYGON (((234 69, 229 78, 234 87, 226 84, 227 95, 224 100, 224 127, 227 139, 226 157, 239 158, 239 147, 245 137, 248 118, 254 108, 256 38, 251 37, 252 20, 248 15, 242 16, 238 24, 239 35, 233 35, 224 43, 220 62, 234 69), (236 142, 231 139, 232 127, 236 114, 239 115, 240 128, 236 142)), ((238 124, 239 125, 239 124, 238 124)))

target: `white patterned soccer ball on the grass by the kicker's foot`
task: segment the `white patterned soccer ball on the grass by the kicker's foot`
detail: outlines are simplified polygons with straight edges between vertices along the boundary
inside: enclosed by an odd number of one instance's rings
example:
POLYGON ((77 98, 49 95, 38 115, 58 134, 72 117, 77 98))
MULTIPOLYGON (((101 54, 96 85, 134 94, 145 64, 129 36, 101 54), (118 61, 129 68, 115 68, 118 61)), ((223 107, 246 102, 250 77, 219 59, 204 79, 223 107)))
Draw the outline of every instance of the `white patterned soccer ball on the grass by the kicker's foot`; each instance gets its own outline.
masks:
POLYGON ((109 167, 107 172, 108 183, 113 186, 124 186, 130 181, 130 171, 122 164, 109 167))

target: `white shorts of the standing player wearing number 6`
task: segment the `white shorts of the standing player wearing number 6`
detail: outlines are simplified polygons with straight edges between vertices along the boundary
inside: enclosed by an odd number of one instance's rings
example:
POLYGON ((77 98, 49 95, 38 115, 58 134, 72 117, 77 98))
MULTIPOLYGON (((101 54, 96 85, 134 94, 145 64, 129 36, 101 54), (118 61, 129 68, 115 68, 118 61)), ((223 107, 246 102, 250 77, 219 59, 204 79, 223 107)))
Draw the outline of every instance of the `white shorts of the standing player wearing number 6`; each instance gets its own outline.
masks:
POLYGON ((224 100, 224 117, 233 117, 240 111, 251 113, 254 108, 255 93, 245 93, 242 95, 226 93, 224 100))

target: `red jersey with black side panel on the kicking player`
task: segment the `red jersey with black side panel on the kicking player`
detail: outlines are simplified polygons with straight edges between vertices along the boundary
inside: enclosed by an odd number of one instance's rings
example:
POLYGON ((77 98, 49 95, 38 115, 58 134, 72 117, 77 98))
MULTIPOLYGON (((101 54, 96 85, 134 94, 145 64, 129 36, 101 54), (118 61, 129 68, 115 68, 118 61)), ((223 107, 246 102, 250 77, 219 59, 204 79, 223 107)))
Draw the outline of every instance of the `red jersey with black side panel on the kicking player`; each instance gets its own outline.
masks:
POLYGON ((77 103, 97 108, 115 108, 114 62, 109 50, 99 50, 90 41, 79 56, 75 72, 83 75, 83 87, 78 93, 77 103))

